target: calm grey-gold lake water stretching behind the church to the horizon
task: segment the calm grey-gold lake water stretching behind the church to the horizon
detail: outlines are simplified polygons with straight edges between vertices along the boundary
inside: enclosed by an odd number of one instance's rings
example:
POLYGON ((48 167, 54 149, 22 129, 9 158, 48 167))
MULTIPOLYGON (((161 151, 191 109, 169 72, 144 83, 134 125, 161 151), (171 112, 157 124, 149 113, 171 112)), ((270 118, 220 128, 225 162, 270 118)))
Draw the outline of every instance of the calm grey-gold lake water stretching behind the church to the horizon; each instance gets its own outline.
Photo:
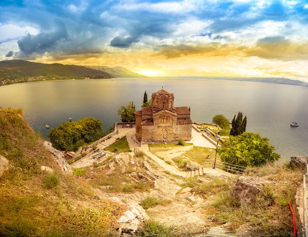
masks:
POLYGON ((269 137, 283 157, 308 156, 308 88, 248 82, 171 78, 113 78, 16 84, 0 87, 0 107, 23 108, 29 124, 46 137, 48 124, 69 117, 100 118, 104 129, 120 121, 118 108, 133 101, 140 109, 148 97, 164 89, 175 94, 175 106, 190 106, 191 119, 211 122, 216 114, 230 120, 242 111, 247 131, 269 137), (291 128, 291 122, 298 128, 291 128))

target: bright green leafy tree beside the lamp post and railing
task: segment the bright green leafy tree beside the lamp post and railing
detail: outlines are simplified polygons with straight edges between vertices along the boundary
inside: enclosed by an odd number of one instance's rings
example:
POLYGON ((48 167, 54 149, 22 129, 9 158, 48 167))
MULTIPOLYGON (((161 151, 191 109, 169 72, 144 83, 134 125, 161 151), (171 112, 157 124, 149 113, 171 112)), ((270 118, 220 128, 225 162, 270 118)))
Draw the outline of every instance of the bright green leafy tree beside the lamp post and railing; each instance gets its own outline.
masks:
POLYGON ((238 136, 230 136, 226 143, 228 148, 220 148, 218 153, 225 163, 244 167, 261 166, 280 158, 268 141, 267 137, 261 137, 259 133, 244 132, 238 136))

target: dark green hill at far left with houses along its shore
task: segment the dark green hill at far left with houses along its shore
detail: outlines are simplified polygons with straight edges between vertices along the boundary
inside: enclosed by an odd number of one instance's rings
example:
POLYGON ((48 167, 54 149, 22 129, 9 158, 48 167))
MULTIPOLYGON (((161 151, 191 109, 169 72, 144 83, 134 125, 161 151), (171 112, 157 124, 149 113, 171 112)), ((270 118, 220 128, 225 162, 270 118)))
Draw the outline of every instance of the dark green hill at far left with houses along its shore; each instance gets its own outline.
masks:
POLYGON ((0 62, 0 81, 112 78, 107 72, 77 65, 42 64, 24 60, 0 62), (44 79, 43 79, 44 78, 44 79))

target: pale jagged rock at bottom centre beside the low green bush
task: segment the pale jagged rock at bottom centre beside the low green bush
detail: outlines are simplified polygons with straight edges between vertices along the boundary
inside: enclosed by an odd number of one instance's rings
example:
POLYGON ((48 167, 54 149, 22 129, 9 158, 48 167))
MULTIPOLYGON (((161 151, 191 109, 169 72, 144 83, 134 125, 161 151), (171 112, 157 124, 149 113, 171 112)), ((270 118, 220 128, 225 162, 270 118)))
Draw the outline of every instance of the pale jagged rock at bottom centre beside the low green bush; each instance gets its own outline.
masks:
POLYGON ((127 211, 119 219, 119 232, 122 236, 132 236, 134 232, 149 219, 145 210, 138 203, 123 203, 119 198, 111 198, 112 201, 125 205, 127 211))

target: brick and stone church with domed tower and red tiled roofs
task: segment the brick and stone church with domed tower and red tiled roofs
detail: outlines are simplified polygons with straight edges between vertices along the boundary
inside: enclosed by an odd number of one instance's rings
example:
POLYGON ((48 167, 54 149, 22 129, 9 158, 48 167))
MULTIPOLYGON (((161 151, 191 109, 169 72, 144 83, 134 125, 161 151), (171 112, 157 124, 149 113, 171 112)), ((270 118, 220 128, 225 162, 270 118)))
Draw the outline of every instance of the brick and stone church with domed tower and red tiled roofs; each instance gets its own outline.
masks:
POLYGON ((152 106, 136 111, 136 138, 142 142, 191 140, 188 107, 174 107, 174 94, 161 89, 152 94, 152 106))

